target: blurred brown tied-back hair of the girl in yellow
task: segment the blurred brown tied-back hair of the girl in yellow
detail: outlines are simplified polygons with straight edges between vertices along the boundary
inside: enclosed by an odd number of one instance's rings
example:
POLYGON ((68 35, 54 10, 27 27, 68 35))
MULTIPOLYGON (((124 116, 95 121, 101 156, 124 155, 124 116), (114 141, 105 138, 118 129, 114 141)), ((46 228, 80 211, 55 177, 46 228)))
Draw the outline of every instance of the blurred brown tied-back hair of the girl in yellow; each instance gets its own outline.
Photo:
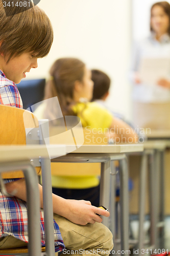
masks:
MULTIPOLYGON (((77 80, 83 82, 85 64, 76 58, 60 58, 50 69, 50 80, 45 86, 45 97, 58 97, 63 115, 75 115, 71 107, 74 102, 74 87, 77 80)), ((48 106, 47 112, 53 111, 48 106)))

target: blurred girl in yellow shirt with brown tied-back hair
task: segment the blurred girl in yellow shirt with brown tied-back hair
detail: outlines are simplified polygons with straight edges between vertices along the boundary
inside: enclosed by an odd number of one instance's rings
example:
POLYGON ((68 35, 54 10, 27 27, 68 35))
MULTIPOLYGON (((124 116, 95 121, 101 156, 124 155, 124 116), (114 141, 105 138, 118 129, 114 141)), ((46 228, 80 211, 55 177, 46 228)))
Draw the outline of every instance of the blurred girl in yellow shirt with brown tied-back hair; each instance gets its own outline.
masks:
MULTIPOLYGON (((60 58, 54 62, 50 75, 51 79, 45 86, 45 99, 57 96, 63 116, 78 116, 83 127, 88 126, 88 129, 98 129, 103 132, 105 129, 114 130, 115 140, 131 138, 131 141, 135 142, 137 134, 127 123, 114 118, 98 103, 89 102, 93 93, 93 81, 91 71, 81 60, 60 58)), ((52 112, 53 116, 55 115, 54 109, 51 105, 47 105, 46 109, 40 105, 35 115, 38 118, 49 118, 52 112)), ((99 178, 94 175, 52 177, 53 193, 66 199, 89 200, 95 206, 99 206, 99 183, 99 178)))

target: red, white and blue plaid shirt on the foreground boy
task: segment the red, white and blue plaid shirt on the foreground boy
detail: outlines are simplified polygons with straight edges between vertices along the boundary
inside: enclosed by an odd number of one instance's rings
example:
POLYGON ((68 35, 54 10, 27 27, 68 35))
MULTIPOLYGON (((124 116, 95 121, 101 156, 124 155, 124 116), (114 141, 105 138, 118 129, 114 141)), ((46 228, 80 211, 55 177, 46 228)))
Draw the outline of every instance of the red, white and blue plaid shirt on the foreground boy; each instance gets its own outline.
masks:
MULTIPOLYGON (((0 104, 22 108, 22 100, 16 84, 0 70, 0 104)), ((5 183, 14 181, 6 179, 5 183)), ((43 210, 40 210, 41 244, 45 246, 43 210)), ((19 198, 8 198, 0 190, 0 238, 13 236, 28 243, 27 203, 19 198)), ((65 248, 59 226, 54 221, 55 251, 65 248)))

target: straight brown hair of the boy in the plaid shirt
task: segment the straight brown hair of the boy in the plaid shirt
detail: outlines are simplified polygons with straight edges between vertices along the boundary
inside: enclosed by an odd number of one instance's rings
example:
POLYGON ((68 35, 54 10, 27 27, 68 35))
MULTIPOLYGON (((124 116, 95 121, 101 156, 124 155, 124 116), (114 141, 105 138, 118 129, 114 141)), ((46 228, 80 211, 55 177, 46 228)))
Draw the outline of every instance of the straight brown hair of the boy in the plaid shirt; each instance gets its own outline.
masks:
MULTIPOLYGON (((26 2, 26 0, 19 0, 26 2)), ((26 10, 23 8, 17 13, 17 6, 11 8, 13 15, 6 16, 3 2, 0 0, 0 53, 4 56, 8 54, 8 61, 13 56, 18 56, 25 52, 32 52, 37 58, 42 58, 48 54, 53 42, 53 28, 50 19, 45 12, 37 5, 26 10)), ((27 0, 28 2, 28 0, 27 0)), ((8 62, 7 61, 7 62, 8 62)))

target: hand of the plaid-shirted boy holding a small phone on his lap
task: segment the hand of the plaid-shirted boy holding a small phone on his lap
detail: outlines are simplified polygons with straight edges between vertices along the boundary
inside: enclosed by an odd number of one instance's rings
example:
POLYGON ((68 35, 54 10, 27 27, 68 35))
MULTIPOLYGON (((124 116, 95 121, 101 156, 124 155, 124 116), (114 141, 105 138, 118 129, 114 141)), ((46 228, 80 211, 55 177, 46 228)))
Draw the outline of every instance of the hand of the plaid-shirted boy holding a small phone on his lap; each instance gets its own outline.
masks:
POLYGON ((89 201, 67 200, 67 208, 63 217, 75 224, 86 225, 87 223, 102 222, 102 218, 96 214, 105 217, 110 215, 108 211, 92 206, 89 201))

